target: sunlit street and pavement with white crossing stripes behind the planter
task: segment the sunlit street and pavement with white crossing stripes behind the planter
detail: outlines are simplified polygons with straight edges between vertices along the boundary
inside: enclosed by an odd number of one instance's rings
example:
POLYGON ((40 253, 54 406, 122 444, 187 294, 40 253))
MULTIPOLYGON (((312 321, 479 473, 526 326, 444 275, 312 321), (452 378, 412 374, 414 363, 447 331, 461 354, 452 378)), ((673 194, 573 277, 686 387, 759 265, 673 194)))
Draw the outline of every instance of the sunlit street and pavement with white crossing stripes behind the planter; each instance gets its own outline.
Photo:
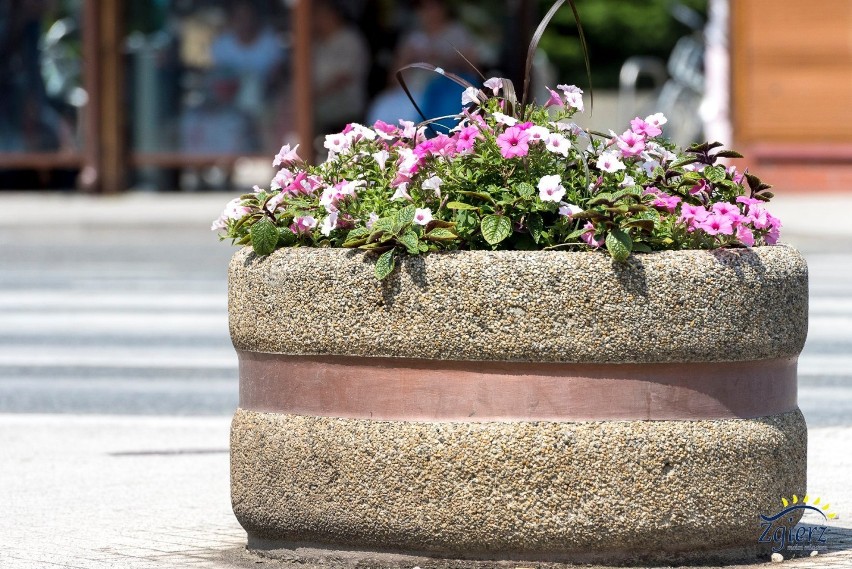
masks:
MULTIPOLYGON (((233 249, 209 232, 228 199, 0 194, 0 567, 256 561, 228 501, 233 249)), ((801 197, 770 209, 810 267, 809 492, 852 528, 852 228, 826 234, 801 197)), ((852 567, 850 532, 789 566, 852 567)))

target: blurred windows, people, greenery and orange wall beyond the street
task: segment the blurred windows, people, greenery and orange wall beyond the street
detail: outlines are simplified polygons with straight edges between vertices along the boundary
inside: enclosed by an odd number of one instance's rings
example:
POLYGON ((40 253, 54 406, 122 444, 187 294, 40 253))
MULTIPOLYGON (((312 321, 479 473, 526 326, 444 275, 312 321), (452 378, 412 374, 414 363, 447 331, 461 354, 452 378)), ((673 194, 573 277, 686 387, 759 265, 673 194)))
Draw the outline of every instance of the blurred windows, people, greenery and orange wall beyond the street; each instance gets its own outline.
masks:
MULTIPOLYGON (((473 64, 520 82, 549 5, 0 0, 0 190, 267 185, 284 143, 321 158, 318 137, 346 122, 416 120, 393 76, 407 63, 475 79, 473 64)), ((677 125, 669 136, 732 145, 778 189, 852 186, 848 0, 577 5, 595 87, 584 125, 620 132, 662 111, 677 125)), ((426 114, 456 110, 449 81, 405 77, 426 114)), ((532 82, 588 92, 567 8, 541 41, 532 82)))

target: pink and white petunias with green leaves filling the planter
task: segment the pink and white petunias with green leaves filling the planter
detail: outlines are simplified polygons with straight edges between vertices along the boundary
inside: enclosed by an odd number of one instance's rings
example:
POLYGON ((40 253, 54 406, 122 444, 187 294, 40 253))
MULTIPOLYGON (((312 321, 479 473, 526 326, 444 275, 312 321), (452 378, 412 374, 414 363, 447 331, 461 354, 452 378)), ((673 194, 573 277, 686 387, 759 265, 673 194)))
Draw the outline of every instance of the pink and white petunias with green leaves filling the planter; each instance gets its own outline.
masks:
POLYGON ((213 229, 258 255, 364 250, 379 279, 400 256, 447 250, 603 249, 624 261, 778 240, 769 186, 720 163, 741 156, 719 143, 675 147, 660 113, 599 133, 571 122, 584 111, 573 85, 548 89, 543 104, 519 102, 506 79, 464 85, 452 129, 350 124, 326 136, 316 166, 284 146, 270 188, 231 201, 213 229))

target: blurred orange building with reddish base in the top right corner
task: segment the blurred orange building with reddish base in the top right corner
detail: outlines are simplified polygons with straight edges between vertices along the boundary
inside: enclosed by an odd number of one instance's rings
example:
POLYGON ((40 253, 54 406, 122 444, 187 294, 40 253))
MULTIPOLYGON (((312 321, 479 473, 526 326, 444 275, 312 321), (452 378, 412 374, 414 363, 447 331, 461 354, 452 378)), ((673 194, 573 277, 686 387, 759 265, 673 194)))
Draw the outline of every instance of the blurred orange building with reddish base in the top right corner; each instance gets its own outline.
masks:
POLYGON ((852 191, 852 2, 729 4, 736 147, 780 190, 852 191))

